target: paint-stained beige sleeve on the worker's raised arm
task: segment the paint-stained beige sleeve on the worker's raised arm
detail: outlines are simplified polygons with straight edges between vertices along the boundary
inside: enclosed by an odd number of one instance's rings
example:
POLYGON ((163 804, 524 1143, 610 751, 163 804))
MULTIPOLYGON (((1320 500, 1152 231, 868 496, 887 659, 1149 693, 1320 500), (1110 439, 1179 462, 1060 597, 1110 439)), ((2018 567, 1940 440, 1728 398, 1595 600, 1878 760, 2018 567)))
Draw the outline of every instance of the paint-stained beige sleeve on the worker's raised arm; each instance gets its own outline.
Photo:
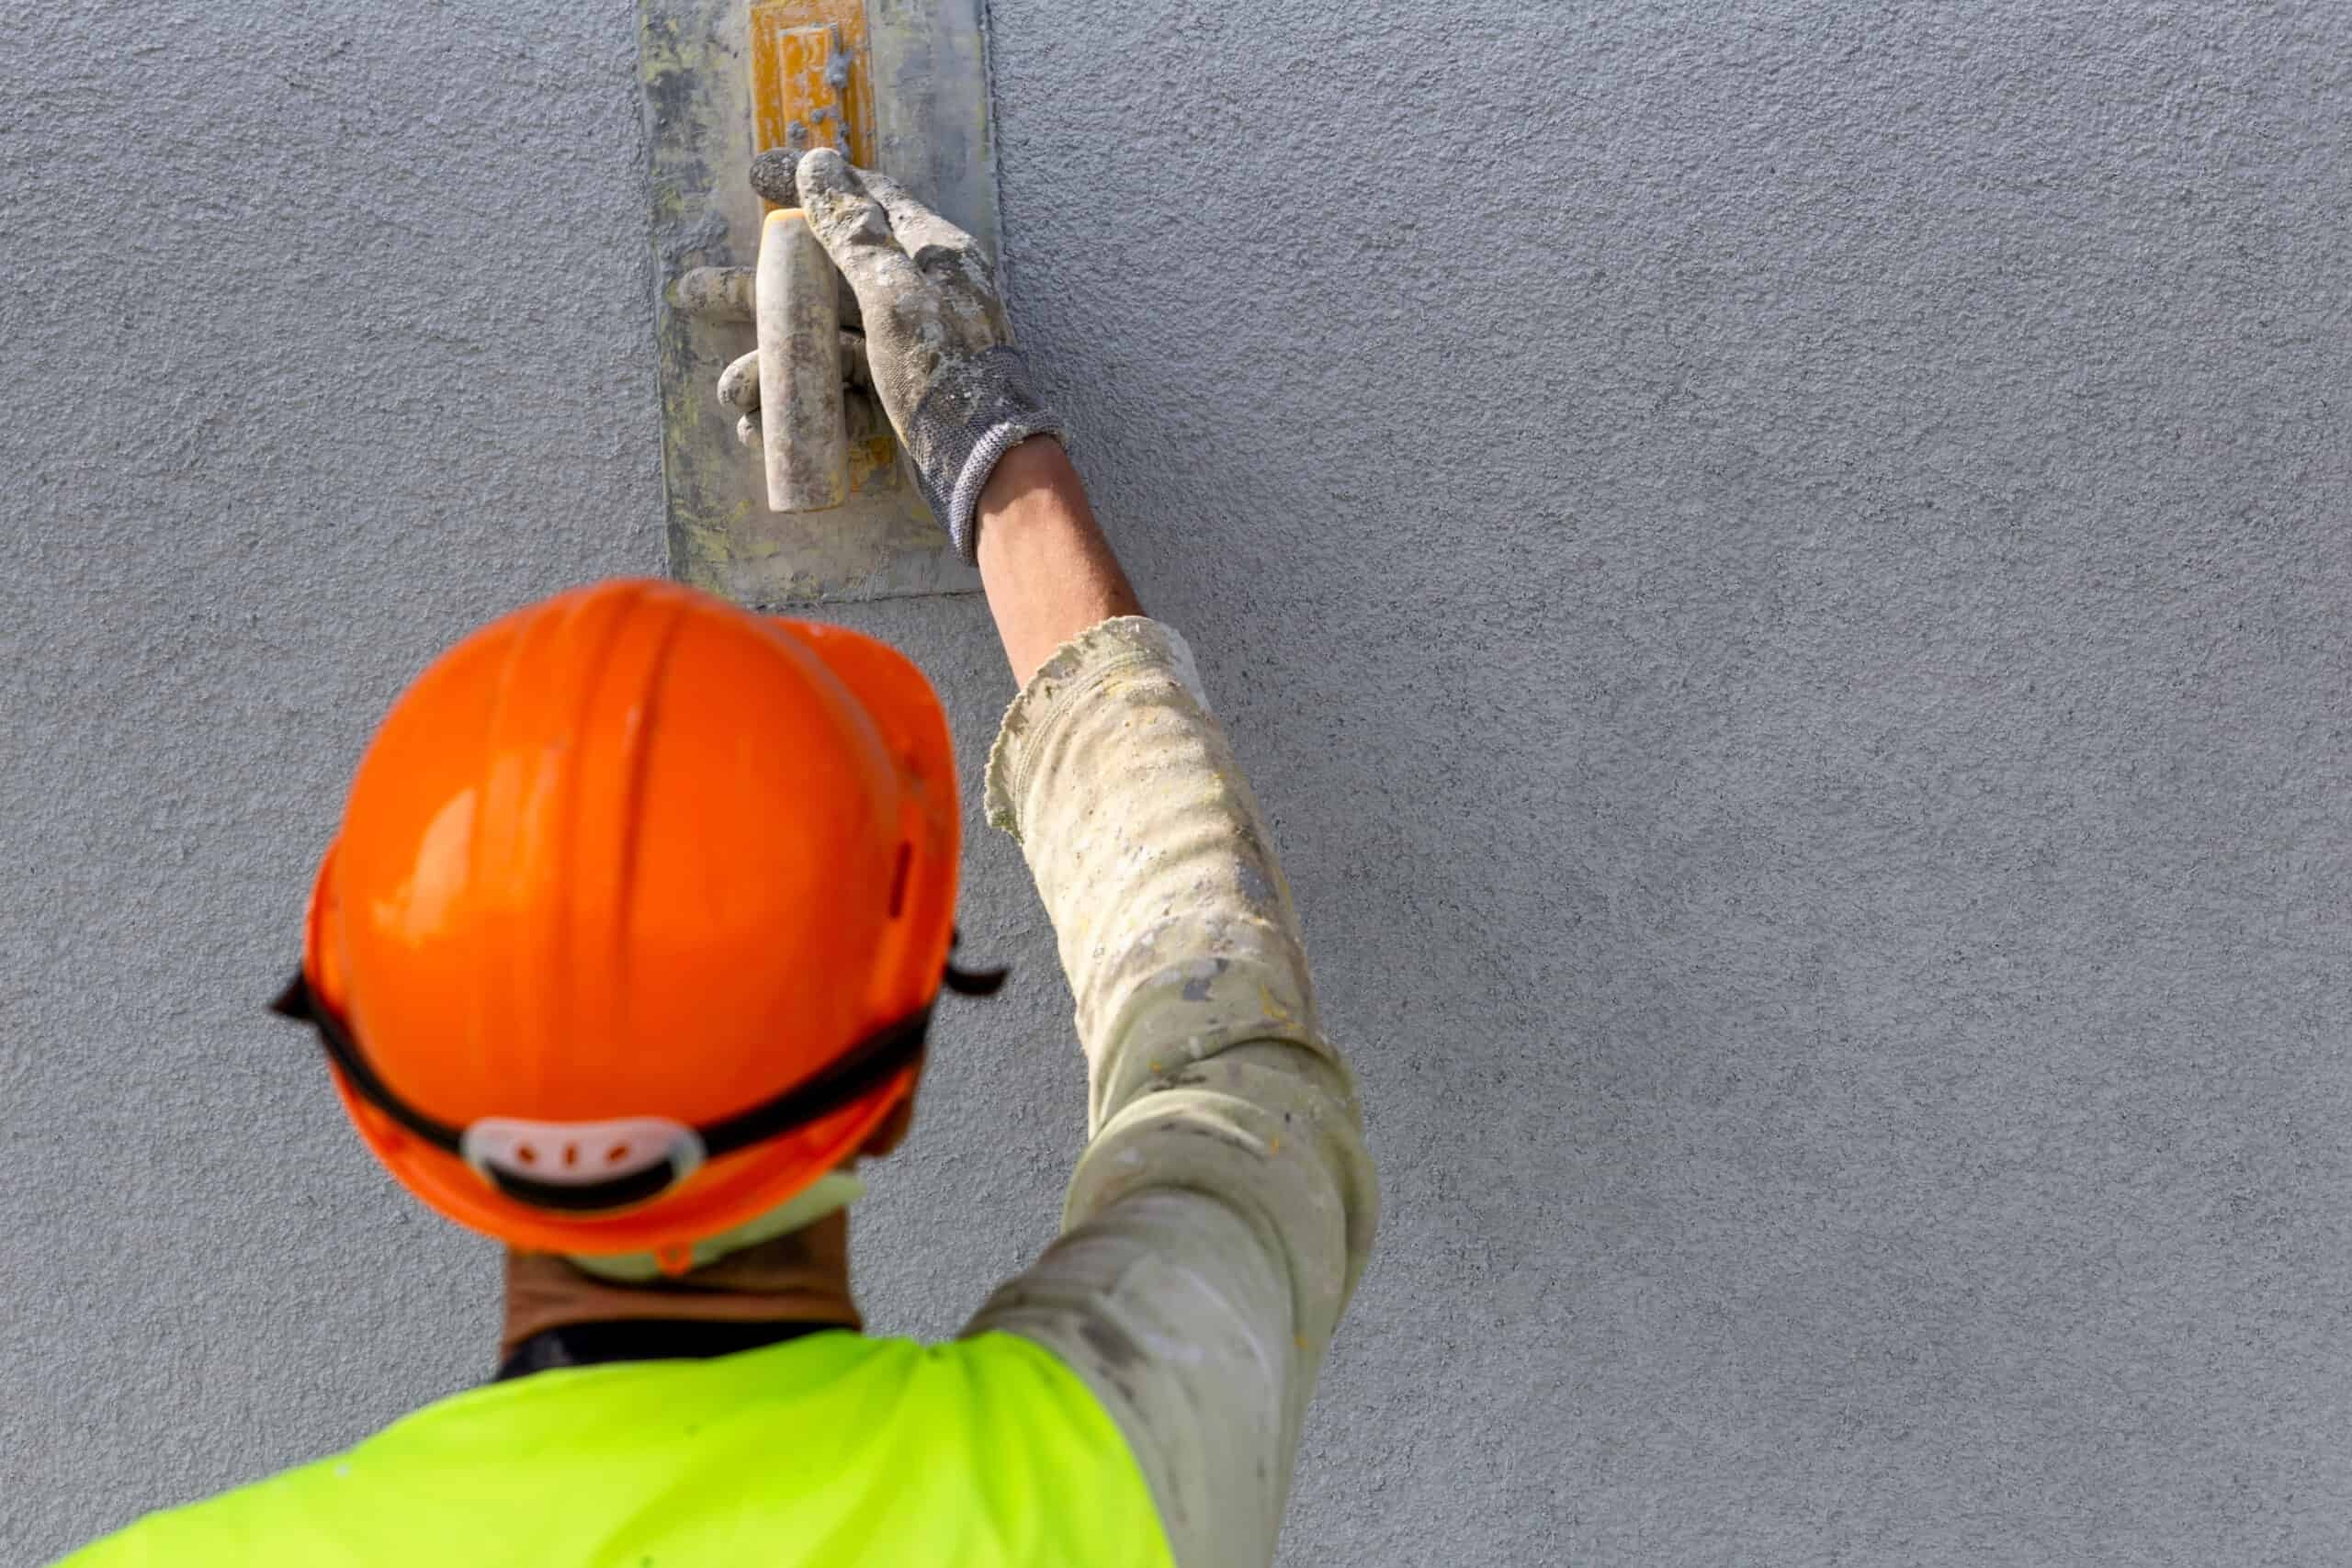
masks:
POLYGON ((1047 661, 1004 717, 988 816, 1054 919, 1091 1140, 1063 1237, 974 1331, 1094 1387, 1183 1568, 1268 1563, 1376 1199, 1282 867, 1183 639, 1120 618, 1047 661))

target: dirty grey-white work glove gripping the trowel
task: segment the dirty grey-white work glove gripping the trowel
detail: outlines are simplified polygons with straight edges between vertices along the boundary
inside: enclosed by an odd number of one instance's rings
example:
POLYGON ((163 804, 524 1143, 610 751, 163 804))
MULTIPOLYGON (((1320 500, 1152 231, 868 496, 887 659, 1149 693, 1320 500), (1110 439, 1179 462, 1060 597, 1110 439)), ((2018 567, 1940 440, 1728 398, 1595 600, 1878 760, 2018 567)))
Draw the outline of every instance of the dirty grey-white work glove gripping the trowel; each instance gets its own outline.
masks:
MULTIPOLYGON (((816 148, 797 169, 790 153, 762 153, 750 183, 769 202, 802 207, 849 280, 863 320, 863 336, 842 339, 849 381, 880 400, 922 498, 957 555, 974 559, 981 489, 997 458, 1033 435, 1065 440, 1061 418, 1030 390, 988 256, 898 181, 854 169, 833 148, 816 148)), ((727 367, 720 402, 741 416, 746 444, 757 444, 757 353, 727 367)))

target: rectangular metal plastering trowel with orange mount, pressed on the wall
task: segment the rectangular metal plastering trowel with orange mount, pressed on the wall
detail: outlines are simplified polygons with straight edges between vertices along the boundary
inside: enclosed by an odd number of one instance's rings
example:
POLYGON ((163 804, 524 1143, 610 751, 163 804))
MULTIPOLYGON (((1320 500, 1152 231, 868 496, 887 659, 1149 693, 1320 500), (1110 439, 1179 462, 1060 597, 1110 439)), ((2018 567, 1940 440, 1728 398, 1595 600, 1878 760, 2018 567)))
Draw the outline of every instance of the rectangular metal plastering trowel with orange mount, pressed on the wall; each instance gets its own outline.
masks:
POLYGON ((640 0, 670 574, 743 604, 974 592, 882 423, 844 418, 840 277, 750 160, 840 148, 995 256, 981 0, 640 0), (713 397, 760 348, 764 461, 713 397))

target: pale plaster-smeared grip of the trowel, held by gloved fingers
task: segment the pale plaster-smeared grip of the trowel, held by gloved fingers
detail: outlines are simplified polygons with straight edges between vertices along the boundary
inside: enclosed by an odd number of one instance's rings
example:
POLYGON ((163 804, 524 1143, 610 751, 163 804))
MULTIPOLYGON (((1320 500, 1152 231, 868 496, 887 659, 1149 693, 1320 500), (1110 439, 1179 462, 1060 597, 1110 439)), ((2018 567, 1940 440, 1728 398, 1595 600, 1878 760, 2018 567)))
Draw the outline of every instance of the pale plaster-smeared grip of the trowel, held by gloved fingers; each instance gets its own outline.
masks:
POLYGON ((842 308, 833 256, 797 207, 760 226, 753 322, 760 331, 760 430, 771 512, 849 501, 842 418, 842 308))

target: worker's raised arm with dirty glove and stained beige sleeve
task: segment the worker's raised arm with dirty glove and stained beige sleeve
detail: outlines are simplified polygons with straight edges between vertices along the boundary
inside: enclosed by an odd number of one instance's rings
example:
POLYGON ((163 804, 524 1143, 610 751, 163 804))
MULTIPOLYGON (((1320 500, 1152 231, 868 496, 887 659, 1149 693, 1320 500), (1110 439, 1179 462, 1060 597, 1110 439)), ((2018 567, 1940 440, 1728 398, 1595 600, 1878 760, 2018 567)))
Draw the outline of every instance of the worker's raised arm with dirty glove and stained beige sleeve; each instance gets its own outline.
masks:
POLYGON ((1091 1086, 1063 1237, 969 1333, 1087 1380, 1183 1568, 1268 1563, 1376 1208, 1272 839, 1190 649, 1141 616, 1094 524, 985 259, 833 153, 802 160, 800 197, 1023 682, 988 816, 1054 919, 1091 1086))

